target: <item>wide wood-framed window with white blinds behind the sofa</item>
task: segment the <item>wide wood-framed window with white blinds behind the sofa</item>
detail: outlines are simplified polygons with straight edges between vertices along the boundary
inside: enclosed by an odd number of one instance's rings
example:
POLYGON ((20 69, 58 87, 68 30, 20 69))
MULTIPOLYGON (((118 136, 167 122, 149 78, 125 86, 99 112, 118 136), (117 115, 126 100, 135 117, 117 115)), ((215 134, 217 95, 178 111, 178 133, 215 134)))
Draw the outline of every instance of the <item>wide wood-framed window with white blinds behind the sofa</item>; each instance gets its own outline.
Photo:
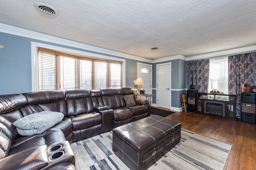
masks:
POLYGON ((90 59, 38 48, 38 90, 120 88, 122 68, 121 61, 90 59))

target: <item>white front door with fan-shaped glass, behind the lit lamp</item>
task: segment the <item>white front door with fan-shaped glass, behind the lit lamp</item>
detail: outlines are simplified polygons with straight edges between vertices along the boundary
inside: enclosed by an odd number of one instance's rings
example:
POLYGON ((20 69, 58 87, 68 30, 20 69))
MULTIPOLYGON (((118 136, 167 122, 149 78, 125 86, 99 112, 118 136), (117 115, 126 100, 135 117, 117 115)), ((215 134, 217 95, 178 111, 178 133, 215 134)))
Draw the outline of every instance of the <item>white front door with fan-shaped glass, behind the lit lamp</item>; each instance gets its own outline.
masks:
POLYGON ((138 78, 142 78, 144 84, 141 85, 145 94, 152 94, 152 65, 138 63, 138 78))

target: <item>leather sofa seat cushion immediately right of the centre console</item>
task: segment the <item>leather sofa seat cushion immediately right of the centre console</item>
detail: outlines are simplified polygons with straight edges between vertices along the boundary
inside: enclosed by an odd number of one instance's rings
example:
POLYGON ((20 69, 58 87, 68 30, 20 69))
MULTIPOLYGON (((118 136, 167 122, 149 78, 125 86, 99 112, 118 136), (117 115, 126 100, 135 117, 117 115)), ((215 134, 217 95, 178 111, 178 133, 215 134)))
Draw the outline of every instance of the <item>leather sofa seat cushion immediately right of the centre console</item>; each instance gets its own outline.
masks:
POLYGON ((114 110, 114 121, 129 119, 133 116, 132 110, 127 107, 119 107, 114 110))

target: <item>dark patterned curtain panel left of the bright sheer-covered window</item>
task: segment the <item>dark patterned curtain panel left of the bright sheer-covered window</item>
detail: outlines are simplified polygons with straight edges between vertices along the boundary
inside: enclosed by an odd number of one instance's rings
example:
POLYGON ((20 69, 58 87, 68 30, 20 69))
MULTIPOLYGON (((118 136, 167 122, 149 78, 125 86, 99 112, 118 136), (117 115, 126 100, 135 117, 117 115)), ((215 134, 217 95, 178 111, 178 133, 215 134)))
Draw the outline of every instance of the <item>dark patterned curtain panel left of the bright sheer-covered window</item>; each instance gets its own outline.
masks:
POLYGON ((188 62, 188 89, 193 83, 198 92, 208 92, 210 60, 188 62))

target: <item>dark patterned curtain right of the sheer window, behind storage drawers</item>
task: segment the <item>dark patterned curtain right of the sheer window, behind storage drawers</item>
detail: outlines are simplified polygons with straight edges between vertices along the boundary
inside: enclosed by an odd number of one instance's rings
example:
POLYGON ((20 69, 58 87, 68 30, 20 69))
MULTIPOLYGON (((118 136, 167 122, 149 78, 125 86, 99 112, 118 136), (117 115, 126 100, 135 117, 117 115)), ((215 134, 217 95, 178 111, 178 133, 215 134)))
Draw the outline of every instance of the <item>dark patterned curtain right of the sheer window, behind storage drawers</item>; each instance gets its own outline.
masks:
POLYGON ((255 86, 256 52, 228 56, 228 93, 238 94, 236 117, 241 117, 241 92, 245 83, 255 86))

